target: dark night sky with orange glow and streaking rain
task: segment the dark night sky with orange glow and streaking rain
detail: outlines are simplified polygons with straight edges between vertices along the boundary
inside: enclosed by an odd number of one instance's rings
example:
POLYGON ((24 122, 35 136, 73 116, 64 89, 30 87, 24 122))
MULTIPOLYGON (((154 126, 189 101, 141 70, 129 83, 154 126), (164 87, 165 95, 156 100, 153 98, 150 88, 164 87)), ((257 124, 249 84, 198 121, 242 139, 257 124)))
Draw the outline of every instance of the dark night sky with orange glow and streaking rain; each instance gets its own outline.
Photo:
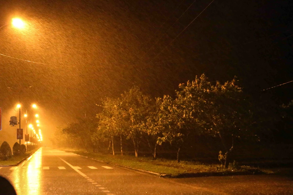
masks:
MULTIPOLYGON (((85 112, 94 116, 100 98, 118 97, 133 85, 152 97, 173 95, 179 83, 205 73, 222 82, 237 76, 244 90, 259 94, 293 80, 292 1, 210 3, 1 2, 0 26, 20 17, 26 27, 2 28, 0 53, 44 64, 0 56, 0 139, 5 132, 15 136, 8 121, 19 98, 26 107, 39 105, 45 139, 54 126, 85 112)), ((287 103, 292 87, 262 93, 287 103)))

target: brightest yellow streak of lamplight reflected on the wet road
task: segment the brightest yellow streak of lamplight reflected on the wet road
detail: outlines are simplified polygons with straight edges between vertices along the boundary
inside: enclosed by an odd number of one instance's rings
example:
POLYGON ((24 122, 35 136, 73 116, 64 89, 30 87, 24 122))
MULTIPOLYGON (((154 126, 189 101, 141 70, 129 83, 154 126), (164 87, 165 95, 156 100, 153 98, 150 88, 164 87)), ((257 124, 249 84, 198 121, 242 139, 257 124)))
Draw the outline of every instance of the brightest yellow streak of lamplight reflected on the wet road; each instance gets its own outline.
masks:
POLYGON ((28 161, 27 166, 27 194, 41 193, 42 148, 40 148, 28 161))

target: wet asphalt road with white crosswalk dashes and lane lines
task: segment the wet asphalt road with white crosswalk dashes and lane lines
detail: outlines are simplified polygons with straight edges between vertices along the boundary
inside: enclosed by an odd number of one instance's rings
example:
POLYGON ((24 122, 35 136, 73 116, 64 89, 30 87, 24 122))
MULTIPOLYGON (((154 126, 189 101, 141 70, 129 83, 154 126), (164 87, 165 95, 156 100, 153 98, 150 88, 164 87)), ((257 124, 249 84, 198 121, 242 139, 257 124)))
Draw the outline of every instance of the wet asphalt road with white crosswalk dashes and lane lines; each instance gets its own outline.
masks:
POLYGON ((52 148, 40 148, 17 167, 2 167, 18 194, 293 194, 285 176, 163 179, 52 148))

